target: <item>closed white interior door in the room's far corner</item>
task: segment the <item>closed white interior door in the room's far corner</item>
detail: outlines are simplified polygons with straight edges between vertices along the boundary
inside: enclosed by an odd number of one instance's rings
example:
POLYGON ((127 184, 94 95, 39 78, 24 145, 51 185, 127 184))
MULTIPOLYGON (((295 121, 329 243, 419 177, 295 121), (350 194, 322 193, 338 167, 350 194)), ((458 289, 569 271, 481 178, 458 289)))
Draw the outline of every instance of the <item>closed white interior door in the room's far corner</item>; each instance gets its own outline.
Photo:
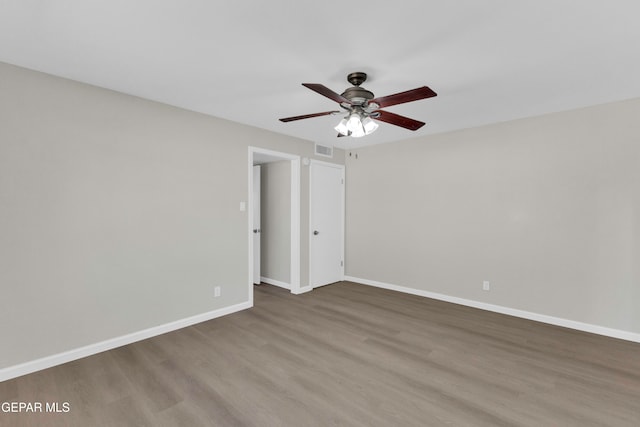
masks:
POLYGON ((344 166, 312 161, 310 165, 309 284, 344 276, 344 166))

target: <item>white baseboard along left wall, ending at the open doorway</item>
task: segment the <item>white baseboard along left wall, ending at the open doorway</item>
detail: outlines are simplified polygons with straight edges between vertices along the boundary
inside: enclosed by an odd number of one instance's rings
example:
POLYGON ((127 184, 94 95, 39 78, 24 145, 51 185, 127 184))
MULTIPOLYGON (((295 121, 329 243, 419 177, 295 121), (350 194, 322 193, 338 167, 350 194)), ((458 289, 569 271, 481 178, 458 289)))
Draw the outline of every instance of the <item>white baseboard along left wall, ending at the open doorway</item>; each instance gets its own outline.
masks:
POLYGON ((164 325, 155 326, 153 328, 144 329, 142 331, 133 332, 121 337, 112 338, 95 344, 89 344, 87 346, 65 351, 63 353, 58 353, 51 356, 43 357, 41 359, 21 363, 19 365, 2 368, 0 369, 0 382, 10 380, 22 375, 30 374, 32 372, 51 368, 56 365, 62 365, 63 363, 71 362, 73 360, 81 359, 83 357, 91 356, 117 347, 122 347, 123 345, 131 344, 136 341, 142 341, 147 338, 175 331, 177 329, 182 329, 187 326, 195 325, 196 323, 206 322, 207 320, 215 319, 216 317, 221 317, 227 314, 235 313, 237 311, 246 310, 248 308, 251 308, 252 306, 253 303, 247 301, 218 310, 213 310, 208 313, 202 313, 196 316, 187 317, 185 319, 176 320, 175 322, 165 323, 164 325))

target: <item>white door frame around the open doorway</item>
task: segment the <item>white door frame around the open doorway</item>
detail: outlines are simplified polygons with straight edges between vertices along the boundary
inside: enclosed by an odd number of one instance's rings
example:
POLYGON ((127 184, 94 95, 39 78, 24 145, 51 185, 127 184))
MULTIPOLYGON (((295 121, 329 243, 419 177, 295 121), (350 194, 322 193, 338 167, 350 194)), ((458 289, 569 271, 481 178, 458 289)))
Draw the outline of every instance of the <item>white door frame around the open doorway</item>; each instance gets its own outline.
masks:
POLYGON ((249 188, 247 196, 247 236, 249 243, 249 301, 253 306, 253 162, 254 154, 263 154, 273 157, 274 161, 289 160, 291 167, 291 242, 289 260, 289 281, 291 293, 300 293, 300 156, 283 153, 280 151, 268 150, 266 148, 249 146, 248 149, 248 171, 249 188))

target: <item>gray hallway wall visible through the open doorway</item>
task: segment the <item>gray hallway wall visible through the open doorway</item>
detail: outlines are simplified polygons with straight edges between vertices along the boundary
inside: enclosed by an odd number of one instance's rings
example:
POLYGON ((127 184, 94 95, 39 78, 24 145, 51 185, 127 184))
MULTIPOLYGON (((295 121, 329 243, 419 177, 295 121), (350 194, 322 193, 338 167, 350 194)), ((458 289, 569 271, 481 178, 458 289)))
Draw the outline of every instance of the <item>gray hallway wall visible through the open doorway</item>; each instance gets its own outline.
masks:
POLYGON ((291 284, 291 162, 261 166, 261 276, 291 284))

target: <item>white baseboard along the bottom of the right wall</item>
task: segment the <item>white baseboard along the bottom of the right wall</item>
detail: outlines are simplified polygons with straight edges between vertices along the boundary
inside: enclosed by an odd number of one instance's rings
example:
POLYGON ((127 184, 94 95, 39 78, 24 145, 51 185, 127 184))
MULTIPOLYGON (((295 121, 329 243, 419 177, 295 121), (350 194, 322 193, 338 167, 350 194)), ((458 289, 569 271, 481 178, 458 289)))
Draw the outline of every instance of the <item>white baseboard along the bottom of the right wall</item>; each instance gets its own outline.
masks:
POLYGON ((604 335, 611 338, 618 338, 621 340, 640 343, 640 334, 635 332, 623 331, 620 329, 612 329, 604 326, 592 325, 590 323, 583 323, 583 322, 577 322, 575 320, 563 319, 561 317, 547 316, 545 314, 538 314, 530 311, 503 307, 501 305, 487 304, 484 302, 452 297, 449 295, 423 291, 420 289, 408 288, 405 286, 392 285, 390 283, 383 283, 375 280, 362 279, 359 277, 344 276, 344 280, 347 280, 349 282, 359 283, 362 285, 374 286, 376 288, 389 289, 392 291, 403 292, 406 294, 418 295, 421 297, 451 302, 454 304, 465 305, 468 307, 479 308, 487 311, 493 311, 495 313, 507 314, 509 316, 521 317, 523 319, 535 320, 537 322, 548 323, 550 325, 555 325, 555 326, 562 326, 569 329, 576 329, 578 331, 583 331, 583 332, 590 332, 592 334, 604 335))

